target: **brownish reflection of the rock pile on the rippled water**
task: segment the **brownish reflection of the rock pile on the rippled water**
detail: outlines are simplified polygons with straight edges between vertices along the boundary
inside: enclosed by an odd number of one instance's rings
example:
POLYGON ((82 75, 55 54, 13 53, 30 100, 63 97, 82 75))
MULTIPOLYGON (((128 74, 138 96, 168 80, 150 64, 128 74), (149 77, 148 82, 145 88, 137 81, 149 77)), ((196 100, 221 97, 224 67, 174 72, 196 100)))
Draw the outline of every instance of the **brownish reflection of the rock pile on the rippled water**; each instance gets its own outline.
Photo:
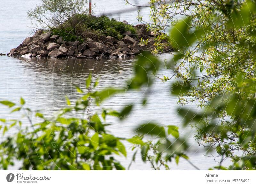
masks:
POLYGON ((74 58, 16 58, 27 70, 45 74, 69 74, 84 76, 92 72, 93 77, 102 74, 120 74, 132 69, 134 59, 94 60, 74 58))

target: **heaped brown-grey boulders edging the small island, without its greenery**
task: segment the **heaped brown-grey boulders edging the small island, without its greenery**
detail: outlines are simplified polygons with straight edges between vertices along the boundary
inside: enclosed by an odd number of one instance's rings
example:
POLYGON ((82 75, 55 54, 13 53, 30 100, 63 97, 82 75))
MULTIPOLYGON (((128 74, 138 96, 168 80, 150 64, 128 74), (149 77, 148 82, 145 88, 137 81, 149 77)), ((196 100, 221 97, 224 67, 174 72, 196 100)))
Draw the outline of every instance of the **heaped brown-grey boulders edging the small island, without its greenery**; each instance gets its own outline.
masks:
MULTIPOLYGON (((127 23, 127 22, 126 22, 127 23)), ((127 23, 128 24, 128 23, 127 23)), ((122 58, 140 54, 142 51, 154 50, 156 34, 147 29, 146 25, 136 25, 137 35, 127 35, 121 41, 111 36, 88 34, 83 43, 67 42, 59 35, 37 30, 35 35, 26 38, 17 48, 12 49, 8 56, 38 58, 122 58), (141 38, 147 42, 140 42, 141 38), (146 43, 146 44, 145 44, 146 43)), ((164 43, 164 42, 163 42, 164 43)), ((171 47, 165 42, 165 52, 171 47)))

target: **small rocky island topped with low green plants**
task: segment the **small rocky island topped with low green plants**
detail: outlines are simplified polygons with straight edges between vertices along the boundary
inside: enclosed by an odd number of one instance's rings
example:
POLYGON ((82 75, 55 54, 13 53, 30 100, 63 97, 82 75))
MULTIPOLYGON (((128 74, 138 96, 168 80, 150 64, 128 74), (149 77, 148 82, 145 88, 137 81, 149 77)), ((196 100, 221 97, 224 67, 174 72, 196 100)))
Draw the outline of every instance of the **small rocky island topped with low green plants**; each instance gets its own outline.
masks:
POLYGON ((160 52, 172 51, 167 41, 157 40, 157 36, 164 33, 154 33, 144 24, 133 26, 126 21, 119 22, 106 16, 76 16, 72 24, 75 26, 36 30, 33 36, 27 37, 7 55, 37 58, 122 58, 155 50, 156 42, 163 46, 160 52))

